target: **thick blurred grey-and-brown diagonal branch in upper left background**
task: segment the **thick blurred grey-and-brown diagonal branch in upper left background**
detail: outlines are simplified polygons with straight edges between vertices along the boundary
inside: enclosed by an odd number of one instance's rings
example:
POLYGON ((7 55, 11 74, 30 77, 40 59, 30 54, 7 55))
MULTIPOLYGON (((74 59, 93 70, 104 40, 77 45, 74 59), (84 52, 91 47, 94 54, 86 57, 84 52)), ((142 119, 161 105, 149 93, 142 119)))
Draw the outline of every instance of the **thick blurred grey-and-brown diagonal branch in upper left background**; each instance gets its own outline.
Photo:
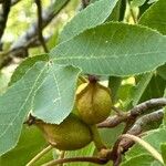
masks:
MULTIPOLYGON (((70 2, 65 0, 56 11, 52 10, 52 4, 48 7, 42 12, 42 29, 44 29, 59 13, 60 11, 70 2)), ((15 56, 24 58, 28 56, 28 49, 39 45, 38 42, 38 20, 34 21, 31 27, 21 35, 14 43, 12 43, 10 50, 4 53, 0 61, 0 69, 10 64, 15 56)))

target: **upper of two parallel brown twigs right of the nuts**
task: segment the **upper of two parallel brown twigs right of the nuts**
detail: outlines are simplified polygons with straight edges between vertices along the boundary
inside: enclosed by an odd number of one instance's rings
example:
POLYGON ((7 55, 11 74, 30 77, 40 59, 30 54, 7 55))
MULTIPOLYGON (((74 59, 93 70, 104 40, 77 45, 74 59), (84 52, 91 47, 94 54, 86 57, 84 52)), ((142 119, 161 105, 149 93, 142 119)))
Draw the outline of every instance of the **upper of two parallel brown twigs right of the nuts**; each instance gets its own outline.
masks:
POLYGON ((155 107, 163 107, 165 105, 166 105, 166 98, 165 97, 153 98, 153 100, 149 100, 149 101, 146 101, 144 103, 136 105, 134 108, 132 108, 131 111, 128 111, 122 115, 114 115, 114 116, 108 117, 104 122, 97 124, 97 127, 100 127, 100 128, 102 128, 102 127, 112 128, 112 127, 115 127, 123 122, 128 122, 128 121, 135 122, 136 118, 139 115, 145 114, 147 110, 155 108, 155 107))

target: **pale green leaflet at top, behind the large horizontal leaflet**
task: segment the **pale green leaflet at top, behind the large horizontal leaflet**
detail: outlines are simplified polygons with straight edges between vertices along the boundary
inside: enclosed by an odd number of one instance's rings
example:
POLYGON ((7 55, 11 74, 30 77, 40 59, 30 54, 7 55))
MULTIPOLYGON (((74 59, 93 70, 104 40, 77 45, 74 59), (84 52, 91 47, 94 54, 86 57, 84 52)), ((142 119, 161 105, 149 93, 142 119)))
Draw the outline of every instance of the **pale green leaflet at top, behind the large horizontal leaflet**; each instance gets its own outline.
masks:
POLYGON ((63 29, 60 42, 70 40, 86 29, 102 24, 112 13, 118 0, 100 0, 80 11, 63 29))

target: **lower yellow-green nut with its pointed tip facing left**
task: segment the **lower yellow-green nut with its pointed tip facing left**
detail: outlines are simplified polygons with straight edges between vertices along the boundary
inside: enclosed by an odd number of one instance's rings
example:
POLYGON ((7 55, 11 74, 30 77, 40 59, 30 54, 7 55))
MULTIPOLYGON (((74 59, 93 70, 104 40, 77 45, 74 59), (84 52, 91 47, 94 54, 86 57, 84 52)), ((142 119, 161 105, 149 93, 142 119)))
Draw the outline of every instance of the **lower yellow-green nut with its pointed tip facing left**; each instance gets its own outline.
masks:
POLYGON ((86 146, 92 141, 89 126, 70 114, 60 125, 37 120, 35 125, 43 132, 45 139, 62 151, 74 151, 86 146))

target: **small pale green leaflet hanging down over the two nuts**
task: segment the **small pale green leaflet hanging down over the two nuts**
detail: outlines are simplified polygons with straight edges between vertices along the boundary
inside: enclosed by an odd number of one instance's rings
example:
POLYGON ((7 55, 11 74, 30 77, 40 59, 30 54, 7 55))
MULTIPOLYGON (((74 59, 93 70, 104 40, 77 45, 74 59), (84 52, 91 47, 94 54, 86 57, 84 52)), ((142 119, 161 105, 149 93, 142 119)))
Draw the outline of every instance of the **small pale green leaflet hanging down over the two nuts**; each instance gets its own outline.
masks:
POLYGON ((73 108, 79 74, 76 68, 52 63, 33 96, 32 114, 45 122, 60 124, 73 108))

